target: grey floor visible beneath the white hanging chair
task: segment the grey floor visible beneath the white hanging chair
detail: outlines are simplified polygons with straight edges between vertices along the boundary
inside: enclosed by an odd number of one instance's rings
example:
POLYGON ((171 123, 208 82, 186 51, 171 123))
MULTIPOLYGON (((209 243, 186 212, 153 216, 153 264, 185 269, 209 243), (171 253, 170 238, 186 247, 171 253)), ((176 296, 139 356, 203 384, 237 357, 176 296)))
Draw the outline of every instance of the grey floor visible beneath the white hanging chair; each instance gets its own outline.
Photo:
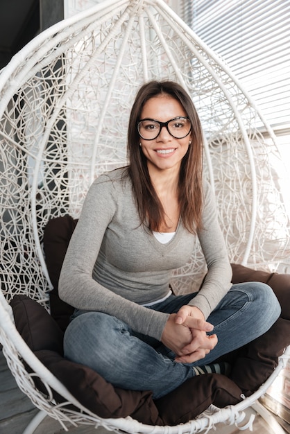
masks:
MULTIPOLYGON (((0 434, 22 434, 37 412, 38 410, 33 406, 33 403, 17 387, 15 379, 8 370, 5 358, 0 352, 0 434)), ((256 414, 253 408, 247 410, 245 420, 248 420, 251 414, 256 414)), ((271 417, 269 422, 266 423, 262 417, 256 415, 253 431, 249 429, 239 431, 235 426, 219 424, 216 426, 216 430, 211 430, 208 434, 278 434, 279 426, 284 428, 281 433, 290 434, 290 425, 282 419, 271 417), (277 422, 279 423, 278 427, 275 425, 277 422)), ((60 424, 49 417, 46 417, 35 430, 35 434, 60 434, 64 432, 65 430, 60 424)), ((104 428, 94 429, 87 426, 73 427, 68 432, 74 434, 109 434, 109 431, 104 428)))

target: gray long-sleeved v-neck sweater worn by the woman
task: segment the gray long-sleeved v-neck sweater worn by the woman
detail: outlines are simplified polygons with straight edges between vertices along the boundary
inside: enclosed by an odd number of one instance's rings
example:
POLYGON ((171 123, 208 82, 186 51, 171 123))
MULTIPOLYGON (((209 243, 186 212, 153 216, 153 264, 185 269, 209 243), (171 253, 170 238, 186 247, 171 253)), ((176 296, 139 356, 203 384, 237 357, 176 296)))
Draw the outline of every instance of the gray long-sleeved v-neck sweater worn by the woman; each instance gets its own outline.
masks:
MULTIPOLYGON (((77 309, 114 315, 160 340, 169 315, 142 304, 167 295, 171 272, 189 262, 196 235, 180 222, 169 243, 157 241, 140 222, 123 170, 101 175, 90 187, 62 266, 59 293, 77 309)), ((204 191, 203 229, 197 236, 208 272, 189 304, 207 318, 230 289, 232 270, 207 182, 204 191)))

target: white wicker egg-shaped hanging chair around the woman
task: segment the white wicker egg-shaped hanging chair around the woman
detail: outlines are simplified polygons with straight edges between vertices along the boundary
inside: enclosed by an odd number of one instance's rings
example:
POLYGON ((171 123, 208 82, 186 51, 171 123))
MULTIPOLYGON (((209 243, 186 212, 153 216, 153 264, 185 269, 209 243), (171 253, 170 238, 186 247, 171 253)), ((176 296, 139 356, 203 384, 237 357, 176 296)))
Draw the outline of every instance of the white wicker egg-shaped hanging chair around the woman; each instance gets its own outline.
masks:
MULTIPOLYGON (((221 59, 162 0, 104 1, 38 35, 0 74, 0 341, 19 388, 43 410, 27 433, 44 415, 64 428, 87 424, 133 434, 200 433, 219 422, 241 424, 243 410, 289 357, 286 351, 262 388, 236 406, 212 407, 187 424, 153 427, 130 418, 101 419, 83 408, 14 327, 8 304, 14 295, 48 304, 52 286, 41 243, 46 223, 65 214, 77 218, 94 178, 126 164, 130 107, 139 86, 154 78, 183 85, 201 117, 205 172, 230 261, 273 270, 289 256, 289 222, 271 166, 280 158, 274 134, 221 59), (35 388, 33 375, 46 384, 48 396, 35 388), (79 412, 54 403, 51 388, 79 412)), ((173 275, 176 290, 192 288, 203 277, 198 246, 193 260, 195 275, 190 266, 173 275)))

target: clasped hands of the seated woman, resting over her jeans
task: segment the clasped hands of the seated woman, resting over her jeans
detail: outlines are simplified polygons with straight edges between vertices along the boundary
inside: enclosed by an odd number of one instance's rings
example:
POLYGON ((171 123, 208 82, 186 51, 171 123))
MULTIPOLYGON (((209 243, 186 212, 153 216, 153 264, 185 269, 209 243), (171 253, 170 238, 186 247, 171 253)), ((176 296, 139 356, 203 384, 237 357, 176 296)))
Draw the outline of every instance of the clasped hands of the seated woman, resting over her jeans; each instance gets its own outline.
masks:
POLYGON ((171 313, 165 324, 161 341, 176 354, 176 362, 193 363, 204 358, 217 344, 214 326, 196 306, 182 306, 178 313, 171 313))

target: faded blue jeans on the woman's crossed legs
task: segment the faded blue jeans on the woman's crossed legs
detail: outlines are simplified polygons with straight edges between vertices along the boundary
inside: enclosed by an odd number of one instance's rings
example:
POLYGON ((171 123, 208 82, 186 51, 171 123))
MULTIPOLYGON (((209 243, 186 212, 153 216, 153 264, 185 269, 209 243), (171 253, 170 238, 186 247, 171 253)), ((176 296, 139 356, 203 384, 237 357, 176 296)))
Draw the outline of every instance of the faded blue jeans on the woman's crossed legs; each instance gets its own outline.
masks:
MULTIPOLYGON (((176 313, 194 295, 171 295, 148 309, 176 313)), ((207 365, 246 345, 265 333, 279 315, 280 304, 268 285, 233 285, 207 318, 214 324, 218 344, 202 360, 182 364, 174 361, 173 352, 162 343, 135 333, 117 318, 96 311, 76 311, 65 332, 65 357, 91 367, 115 387, 152 390, 157 399, 194 376, 192 366, 207 365)))

